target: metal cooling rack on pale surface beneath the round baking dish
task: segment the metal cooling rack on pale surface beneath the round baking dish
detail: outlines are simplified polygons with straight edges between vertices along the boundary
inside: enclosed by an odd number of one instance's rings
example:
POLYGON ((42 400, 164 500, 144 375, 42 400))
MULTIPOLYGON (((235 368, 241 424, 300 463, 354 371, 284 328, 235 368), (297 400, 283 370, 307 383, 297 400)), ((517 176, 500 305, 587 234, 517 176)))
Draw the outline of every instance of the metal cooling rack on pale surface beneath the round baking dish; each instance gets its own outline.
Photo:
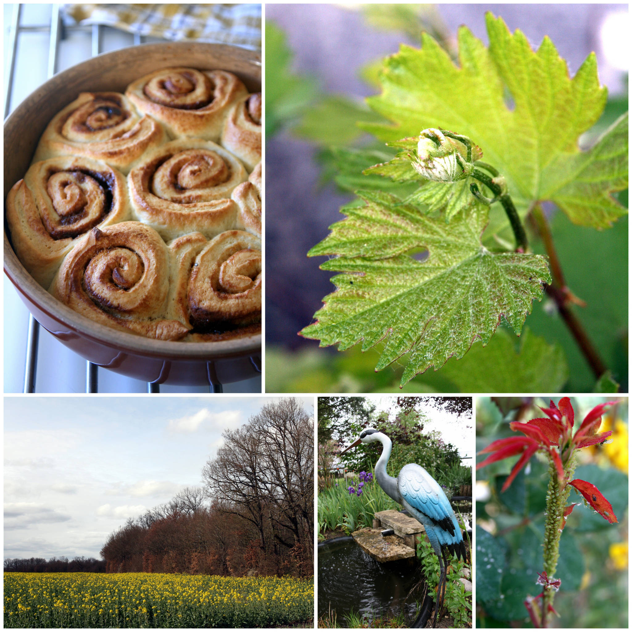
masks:
MULTIPOLYGON (((5 119, 21 100, 58 71, 101 52, 164 41, 97 25, 69 27, 62 21, 60 8, 60 4, 4 5, 5 119)), ((261 376, 223 387, 161 387, 97 367, 40 327, 4 276, 4 392, 22 391, 261 392, 261 376)))

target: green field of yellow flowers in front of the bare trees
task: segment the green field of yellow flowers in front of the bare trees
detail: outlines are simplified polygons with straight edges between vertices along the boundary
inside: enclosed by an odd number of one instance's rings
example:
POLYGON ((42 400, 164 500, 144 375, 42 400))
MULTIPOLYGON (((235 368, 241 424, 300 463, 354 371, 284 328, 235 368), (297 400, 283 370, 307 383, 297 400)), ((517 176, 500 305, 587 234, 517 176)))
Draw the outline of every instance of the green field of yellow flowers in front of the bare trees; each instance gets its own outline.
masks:
POLYGON ((313 581, 4 573, 5 628, 257 628, 313 619, 313 581))

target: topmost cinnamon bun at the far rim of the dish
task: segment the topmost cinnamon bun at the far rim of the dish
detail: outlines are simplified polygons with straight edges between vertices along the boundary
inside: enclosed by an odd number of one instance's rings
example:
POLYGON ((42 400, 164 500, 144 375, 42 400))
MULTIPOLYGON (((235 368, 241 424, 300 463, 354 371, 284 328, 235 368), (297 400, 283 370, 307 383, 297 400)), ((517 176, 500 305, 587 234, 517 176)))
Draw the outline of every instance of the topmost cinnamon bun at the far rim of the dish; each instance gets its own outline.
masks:
POLYGON ((248 90, 224 70, 166 68, 130 83, 126 97, 161 121, 172 138, 218 141, 229 109, 248 90))

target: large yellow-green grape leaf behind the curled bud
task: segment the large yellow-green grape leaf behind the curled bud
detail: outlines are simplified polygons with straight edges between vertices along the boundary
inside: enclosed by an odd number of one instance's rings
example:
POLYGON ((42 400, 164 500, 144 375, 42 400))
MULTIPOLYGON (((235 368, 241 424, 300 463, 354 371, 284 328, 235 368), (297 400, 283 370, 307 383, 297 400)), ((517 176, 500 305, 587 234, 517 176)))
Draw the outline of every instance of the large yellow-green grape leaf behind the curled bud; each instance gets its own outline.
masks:
POLYGON ((505 176, 521 216, 534 202, 550 200, 577 224, 609 226, 627 212, 611 195, 627 186, 627 118, 593 150, 580 152, 578 138, 606 101, 595 54, 571 79, 548 37, 533 51, 520 30, 509 32, 490 13, 486 21, 489 48, 459 28, 459 66, 426 33, 422 49, 403 45, 387 58, 382 94, 368 104, 394 125, 362 128, 384 141, 415 137, 425 128, 466 135, 505 176))

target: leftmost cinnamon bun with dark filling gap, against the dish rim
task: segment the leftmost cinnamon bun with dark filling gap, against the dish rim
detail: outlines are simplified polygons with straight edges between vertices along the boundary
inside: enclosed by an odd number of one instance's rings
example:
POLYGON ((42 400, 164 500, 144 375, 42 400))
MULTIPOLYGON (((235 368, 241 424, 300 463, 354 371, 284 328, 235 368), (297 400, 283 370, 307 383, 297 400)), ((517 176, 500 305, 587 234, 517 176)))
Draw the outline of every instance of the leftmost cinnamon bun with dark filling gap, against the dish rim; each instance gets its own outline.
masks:
POLYGON ((13 248, 35 281, 46 288, 78 239, 95 226, 129 218, 123 175, 87 158, 35 162, 6 200, 13 248))

